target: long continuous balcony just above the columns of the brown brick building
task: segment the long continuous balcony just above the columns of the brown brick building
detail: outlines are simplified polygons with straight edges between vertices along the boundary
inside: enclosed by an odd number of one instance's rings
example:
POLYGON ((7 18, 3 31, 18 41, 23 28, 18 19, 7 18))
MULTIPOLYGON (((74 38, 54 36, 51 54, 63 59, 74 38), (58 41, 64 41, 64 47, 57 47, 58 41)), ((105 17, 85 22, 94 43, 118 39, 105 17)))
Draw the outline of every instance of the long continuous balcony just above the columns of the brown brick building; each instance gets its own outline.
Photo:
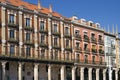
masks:
MULTIPOLYGON (((55 56, 45 56, 45 55, 38 55, 38 56, 31 56, 26 55, 24 51, 22 55, 20 55, 19 51, 14 54, 10 54, 10 52, 1 52, 0 53, 0 60, 9 60, 9 61, 24 61, 24 62, 41 62, 41 63, 54 63, 54 64, 69 64, 73 65, 74 60, 72 59, 65 59, 62 57, 55 57, 55 56)), ((34 53, 33 53, 34 54, 34 53)))

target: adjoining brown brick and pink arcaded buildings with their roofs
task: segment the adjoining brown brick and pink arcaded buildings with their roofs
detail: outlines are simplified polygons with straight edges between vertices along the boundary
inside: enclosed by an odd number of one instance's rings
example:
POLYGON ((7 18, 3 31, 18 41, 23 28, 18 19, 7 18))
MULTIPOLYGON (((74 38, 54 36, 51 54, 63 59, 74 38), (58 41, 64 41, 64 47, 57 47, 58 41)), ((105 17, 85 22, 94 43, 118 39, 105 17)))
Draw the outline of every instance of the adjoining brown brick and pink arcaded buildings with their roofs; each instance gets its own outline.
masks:
POLYGON ((40 1, 0 0, 0 80, 108 80, 104 35, 100 24, 40 1))

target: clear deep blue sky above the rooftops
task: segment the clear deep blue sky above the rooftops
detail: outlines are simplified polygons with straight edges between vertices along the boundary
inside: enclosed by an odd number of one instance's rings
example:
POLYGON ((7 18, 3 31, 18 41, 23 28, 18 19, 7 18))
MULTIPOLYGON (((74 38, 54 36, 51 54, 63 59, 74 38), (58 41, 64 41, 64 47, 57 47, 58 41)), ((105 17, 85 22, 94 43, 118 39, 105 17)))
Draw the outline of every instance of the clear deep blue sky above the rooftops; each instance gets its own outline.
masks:
MULTIPOLYGON (((37 4, 38 0, 24 0, 37 4)), ((40 0, 43 7, 52 4, 53 11, 65 17, 76 15, 79 19, 98 22, 102 27, 118 26, 120 32, 120 0, 40 0)), ((116 29, 115 29, 116 30, 116 29)))

